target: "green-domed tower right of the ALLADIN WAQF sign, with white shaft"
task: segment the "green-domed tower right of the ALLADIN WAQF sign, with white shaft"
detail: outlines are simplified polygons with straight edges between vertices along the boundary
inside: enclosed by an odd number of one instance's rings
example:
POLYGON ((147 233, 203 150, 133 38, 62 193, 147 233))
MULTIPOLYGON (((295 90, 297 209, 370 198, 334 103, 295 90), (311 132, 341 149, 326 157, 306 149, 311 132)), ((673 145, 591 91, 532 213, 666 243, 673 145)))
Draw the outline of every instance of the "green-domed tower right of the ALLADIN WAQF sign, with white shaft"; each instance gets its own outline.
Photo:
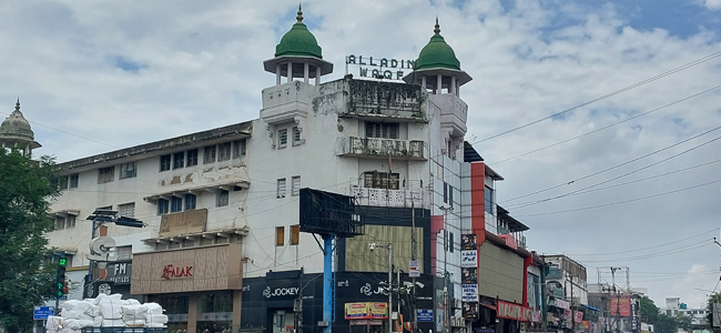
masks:
POLYGON ((456 158, 456 152, 463 148, 468 119, 468 105, 460 100, 460 85, 471 78, 460 69, 456 52, 440 36, 438 18, 434 32, 428 44, 420 50, 414 72, 403 80, 420 84, 430 94, 430 100, 440 108, 440 129, 446 141, 443 150, 448 157, 456 158))

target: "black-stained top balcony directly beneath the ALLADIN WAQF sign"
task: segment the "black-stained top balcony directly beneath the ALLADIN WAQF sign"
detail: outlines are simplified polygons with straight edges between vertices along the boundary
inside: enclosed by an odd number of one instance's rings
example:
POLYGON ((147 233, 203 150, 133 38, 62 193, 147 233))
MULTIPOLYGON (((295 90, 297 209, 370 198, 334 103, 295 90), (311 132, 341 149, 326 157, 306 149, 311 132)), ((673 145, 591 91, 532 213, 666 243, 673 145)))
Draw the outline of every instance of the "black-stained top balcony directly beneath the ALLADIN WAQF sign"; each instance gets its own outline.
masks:
POLYGON ((338 117, 428 122, 420 85, 367 80, 348 81, 347 108, 338 117))

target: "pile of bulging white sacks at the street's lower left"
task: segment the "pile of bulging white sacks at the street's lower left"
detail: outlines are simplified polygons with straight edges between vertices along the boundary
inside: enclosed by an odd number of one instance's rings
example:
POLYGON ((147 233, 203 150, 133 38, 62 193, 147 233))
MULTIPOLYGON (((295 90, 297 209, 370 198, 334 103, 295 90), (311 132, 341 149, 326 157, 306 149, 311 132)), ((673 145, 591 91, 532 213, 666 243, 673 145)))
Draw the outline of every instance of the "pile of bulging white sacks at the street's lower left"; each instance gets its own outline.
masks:
POLYGON ((158 303, 122 300, 121 294, 65 301, 60 316, 49 316, 48 333, 79 333, 83 327, 165 327, 167 315, 158 303))

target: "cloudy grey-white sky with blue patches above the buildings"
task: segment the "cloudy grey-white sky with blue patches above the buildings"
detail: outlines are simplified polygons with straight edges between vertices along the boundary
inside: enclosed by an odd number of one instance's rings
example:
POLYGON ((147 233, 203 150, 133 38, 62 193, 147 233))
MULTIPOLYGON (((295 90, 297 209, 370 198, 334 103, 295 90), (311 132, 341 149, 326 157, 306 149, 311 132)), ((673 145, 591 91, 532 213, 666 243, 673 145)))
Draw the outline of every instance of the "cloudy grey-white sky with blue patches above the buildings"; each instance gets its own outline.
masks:
MULTIPOLYGON (((61 162, 256 119, 275 83, 262 62, 296 10, 1 1, 0 117, 20 95, 37 153, 61 162)), ((335 63, 326 81, 347 54, 415 59, 439 18, 474 78, 460 90, 466 140, 506 179, 498 199, 530 228, 529 250, 566 253, 589 283, 597 268, 628 266, 658 305, 700 306, 719 291, 721 0, 311 0, 303 11, 335 63)))

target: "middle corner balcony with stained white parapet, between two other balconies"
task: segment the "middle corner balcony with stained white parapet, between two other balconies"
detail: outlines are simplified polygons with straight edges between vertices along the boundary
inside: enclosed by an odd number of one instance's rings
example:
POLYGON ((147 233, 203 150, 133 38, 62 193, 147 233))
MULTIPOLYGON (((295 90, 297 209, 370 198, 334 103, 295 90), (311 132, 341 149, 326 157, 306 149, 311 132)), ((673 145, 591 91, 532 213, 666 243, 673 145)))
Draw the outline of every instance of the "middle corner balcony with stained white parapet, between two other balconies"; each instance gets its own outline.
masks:
POLYGON ((419 140, 345 137, 338 139, 338 157, 427 160, 419 140))

